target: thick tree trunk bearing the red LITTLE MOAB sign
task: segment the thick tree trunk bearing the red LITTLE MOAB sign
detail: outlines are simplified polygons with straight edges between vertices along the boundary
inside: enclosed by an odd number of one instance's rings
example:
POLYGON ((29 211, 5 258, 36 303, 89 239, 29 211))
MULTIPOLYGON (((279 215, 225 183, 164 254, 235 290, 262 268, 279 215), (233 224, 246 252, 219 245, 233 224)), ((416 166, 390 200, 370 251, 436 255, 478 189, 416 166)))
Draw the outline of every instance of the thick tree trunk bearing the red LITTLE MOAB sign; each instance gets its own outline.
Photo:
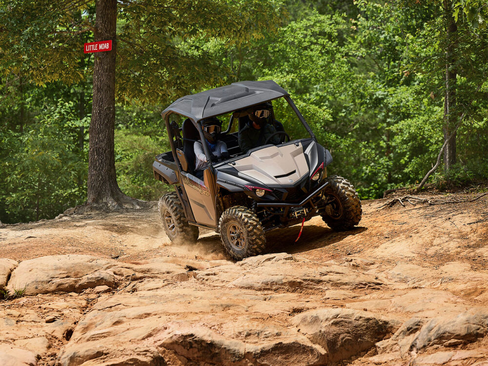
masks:
POLYGON ((131 201, 117 184, 114 156, 117 0, 97 0, 95 41, 112 40, 112 50, 95 53, 93 108, 89 128, 88 204, 118 208, 131 201))

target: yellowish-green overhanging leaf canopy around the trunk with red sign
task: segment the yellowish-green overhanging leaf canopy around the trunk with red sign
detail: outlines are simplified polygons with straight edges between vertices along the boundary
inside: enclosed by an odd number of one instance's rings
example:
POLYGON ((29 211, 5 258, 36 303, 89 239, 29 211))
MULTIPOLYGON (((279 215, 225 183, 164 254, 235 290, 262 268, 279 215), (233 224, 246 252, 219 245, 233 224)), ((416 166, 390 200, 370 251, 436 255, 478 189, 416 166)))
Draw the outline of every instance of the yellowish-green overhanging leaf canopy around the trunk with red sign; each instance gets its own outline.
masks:
MULTIPOLYGON (((95 31, 95 1, 10 1, 0 6, 1 74, 20 72, 45 85, 90 75, 83 42, 95 31)), ((276 0, 120 1, 117 10, 116 98, 120 103, 166 103, 219 83, 220 69, 193 40, 238 47, 273 31, 284 15, 276 0)), ((90 58, 96 56, 88 56, 90 58)))

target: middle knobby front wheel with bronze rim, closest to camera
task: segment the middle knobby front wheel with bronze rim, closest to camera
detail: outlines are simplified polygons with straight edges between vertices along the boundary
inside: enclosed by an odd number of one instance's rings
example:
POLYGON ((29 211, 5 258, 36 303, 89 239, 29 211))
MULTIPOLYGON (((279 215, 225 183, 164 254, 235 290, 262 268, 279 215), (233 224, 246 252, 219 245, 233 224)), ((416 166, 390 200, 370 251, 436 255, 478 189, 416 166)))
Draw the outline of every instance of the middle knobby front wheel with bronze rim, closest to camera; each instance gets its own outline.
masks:
POLYGON ((225 250, 238 261, 261 254, 266 246, 264 229, 256 214, 244 206, 224 211, 219 222, 225 250))

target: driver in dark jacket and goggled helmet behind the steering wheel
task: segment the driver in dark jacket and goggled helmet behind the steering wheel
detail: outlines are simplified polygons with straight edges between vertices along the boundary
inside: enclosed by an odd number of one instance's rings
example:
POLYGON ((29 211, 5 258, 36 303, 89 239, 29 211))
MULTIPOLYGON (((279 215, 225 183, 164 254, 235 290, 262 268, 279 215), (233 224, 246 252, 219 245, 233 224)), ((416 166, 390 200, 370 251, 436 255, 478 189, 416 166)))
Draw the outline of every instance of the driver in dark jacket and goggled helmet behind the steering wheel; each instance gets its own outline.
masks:
MULTIPOLYGON (((270 123, 271 105, 269 103, 256 105, 248 117, 249 123, 243 127, 239 134, 239 147, 243 153, 263 145, 271 135, 276 133, 275 126, 270 123)), ((273 136, 269 143, 277 145, 280 143, 280 136, 273 136)))

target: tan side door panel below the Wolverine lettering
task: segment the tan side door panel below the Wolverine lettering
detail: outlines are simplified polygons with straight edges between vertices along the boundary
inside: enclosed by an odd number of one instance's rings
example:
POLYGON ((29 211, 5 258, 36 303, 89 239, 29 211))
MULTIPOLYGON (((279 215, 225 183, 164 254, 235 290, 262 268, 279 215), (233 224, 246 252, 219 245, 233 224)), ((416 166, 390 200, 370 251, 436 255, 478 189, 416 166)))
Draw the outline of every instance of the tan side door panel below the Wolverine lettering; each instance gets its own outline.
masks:
POLYGON ((191 174, 182 173, 182 184, 197 224, 214 227, 215 203, 210 190, 205 187, 203 181, 191 174))

